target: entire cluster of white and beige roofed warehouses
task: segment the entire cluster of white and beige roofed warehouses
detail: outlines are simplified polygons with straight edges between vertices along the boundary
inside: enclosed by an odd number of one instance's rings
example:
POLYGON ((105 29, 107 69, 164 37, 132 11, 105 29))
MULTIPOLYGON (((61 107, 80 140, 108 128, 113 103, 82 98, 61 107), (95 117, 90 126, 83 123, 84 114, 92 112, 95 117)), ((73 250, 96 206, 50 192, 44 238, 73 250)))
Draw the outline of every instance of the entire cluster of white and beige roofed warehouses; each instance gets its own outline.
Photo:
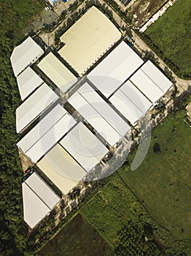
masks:
POLYGON ((173 86, 95 7, 61 41, 65 45, 55 52, 28 37, 11 56, 22 99, 17 148, 39 170, 23 182, 24 219, 31 228, 61 200, 40 173, 67 195, 103 167, 124 138, 128 143, 131 129, 173 86))

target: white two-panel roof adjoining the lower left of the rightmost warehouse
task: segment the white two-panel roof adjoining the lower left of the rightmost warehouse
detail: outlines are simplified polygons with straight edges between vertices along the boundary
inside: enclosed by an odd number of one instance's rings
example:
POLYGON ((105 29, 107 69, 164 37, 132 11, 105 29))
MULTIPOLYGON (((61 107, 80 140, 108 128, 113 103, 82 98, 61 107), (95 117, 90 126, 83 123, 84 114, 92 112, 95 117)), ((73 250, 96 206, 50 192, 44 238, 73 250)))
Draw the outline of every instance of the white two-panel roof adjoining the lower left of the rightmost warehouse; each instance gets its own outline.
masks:
POLYGON ((133 125, 152 107, 152 103, 129 80, 109 98, 109 101, 133 125))

